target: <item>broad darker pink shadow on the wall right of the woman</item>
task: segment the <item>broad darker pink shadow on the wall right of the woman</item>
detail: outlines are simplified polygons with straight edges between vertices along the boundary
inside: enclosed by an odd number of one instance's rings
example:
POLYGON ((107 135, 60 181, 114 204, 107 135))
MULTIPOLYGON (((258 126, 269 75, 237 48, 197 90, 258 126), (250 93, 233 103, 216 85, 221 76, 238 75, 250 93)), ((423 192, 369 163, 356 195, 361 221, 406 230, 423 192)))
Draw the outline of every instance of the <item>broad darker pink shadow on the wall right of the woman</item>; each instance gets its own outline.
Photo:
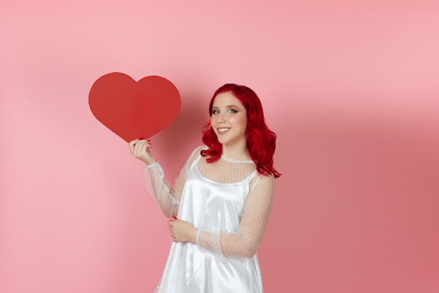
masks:
POLYGON ((283 176, 259 249, 267 292, 283 291, 276 280, 292 292, 433 285, 423 272, 439 259, 437 124, 348 110, 295 108, 271 123, 283 176))

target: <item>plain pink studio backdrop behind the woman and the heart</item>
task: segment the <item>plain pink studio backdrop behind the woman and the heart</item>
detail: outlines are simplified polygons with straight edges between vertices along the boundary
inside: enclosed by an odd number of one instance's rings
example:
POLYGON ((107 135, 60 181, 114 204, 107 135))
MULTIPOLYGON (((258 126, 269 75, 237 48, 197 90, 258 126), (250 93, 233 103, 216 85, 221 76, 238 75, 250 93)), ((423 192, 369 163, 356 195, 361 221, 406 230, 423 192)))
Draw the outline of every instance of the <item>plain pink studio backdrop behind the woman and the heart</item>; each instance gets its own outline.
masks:
MULTIPOLYGON (((226 82, 278 134, 265 291, 439 292, 437 1, 1 1, 0 292, 152 292, 170 237, 97 122, 103 74, 166 77, 170 181, 226 82)), ((165 111, 157 109, 157 111, 165 111)))

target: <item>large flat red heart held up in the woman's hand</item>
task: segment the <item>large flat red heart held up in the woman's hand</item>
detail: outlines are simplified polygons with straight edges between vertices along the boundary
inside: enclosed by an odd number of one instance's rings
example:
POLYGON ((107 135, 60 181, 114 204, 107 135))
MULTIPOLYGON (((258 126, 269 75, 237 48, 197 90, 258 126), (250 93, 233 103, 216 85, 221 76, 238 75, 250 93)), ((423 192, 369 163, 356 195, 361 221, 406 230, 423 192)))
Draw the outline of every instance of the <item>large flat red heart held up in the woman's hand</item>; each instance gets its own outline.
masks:
POLYGON ((149 138, 172 124, 180 112, 180 93, 168 79, 138 82, 113 72, 96 80, 88 94, 91 112, 108 129, 129 142, 149 138))

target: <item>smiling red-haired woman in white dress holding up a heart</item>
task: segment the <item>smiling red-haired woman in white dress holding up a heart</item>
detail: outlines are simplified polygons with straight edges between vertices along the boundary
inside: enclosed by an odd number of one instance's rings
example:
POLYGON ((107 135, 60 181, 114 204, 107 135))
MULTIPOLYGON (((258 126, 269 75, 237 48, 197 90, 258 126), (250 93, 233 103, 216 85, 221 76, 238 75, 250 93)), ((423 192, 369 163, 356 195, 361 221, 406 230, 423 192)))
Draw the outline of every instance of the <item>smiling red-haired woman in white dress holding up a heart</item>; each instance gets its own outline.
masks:
POLYGON ((257 248, 273 202, 276 134, 246 86, 225 84, 209 105, 204 146, 171 187, 149 140, 129 143, 147 164, 147 188, 168 222, 173 245, 156 292, 263 292, 257 248))

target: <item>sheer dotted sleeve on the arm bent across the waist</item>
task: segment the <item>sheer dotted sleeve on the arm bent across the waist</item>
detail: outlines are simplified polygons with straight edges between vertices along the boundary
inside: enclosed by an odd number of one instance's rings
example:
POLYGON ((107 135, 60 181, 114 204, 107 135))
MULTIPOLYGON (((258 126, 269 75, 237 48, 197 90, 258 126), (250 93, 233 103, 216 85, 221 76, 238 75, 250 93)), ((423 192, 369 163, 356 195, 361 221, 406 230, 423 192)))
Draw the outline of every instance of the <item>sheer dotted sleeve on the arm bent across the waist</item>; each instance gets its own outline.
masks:
POLYGON ((273 204, 274 177, 258 175, 254 180, 239 229, 236 233, 212 233, 198 230, 196 244, 224 256, 252 257, 264 236, 273 204))

